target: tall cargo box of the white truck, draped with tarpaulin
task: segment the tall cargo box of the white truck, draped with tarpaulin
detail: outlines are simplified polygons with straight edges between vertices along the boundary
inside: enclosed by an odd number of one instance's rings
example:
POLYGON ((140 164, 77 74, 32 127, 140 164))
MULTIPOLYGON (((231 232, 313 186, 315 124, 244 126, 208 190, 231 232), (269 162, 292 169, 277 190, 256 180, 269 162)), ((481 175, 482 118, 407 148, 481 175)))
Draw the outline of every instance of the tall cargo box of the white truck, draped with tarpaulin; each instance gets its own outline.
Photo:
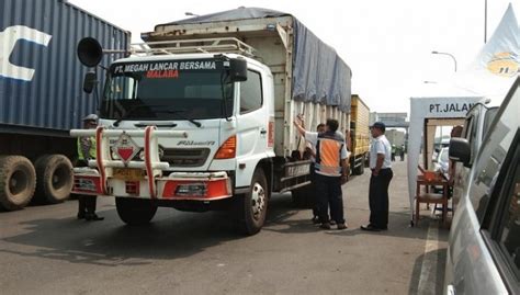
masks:
POLYGON ((268 65, 274 76, 278 156, 302 149, 304 143, 292 125, 299 113, 308 129, 329 117, 339 121, 342 133, 349 128, 349 66, 291 14, 239 8, 159 24, 154 32, 142 34, 146 42, 196 39, 201 47, 205 45, 202 39, 219 37, 236 37, 250 45, 251 57, 268 65))

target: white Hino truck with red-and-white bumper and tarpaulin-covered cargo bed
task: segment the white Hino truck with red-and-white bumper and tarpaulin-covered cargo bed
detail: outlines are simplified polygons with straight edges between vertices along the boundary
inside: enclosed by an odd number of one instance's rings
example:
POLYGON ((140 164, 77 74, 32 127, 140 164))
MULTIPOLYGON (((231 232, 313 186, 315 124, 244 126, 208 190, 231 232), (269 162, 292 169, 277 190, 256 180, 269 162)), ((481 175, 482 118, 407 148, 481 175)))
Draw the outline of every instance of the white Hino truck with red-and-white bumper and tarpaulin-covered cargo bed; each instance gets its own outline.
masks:
MULTIPOLYGON (((247 9, 157 25, 109 68, 97 159, 75 168, 76 193, 116 197, 126 224, 158 206, 230 209, 242 232, 258 232, 272 192, 308 186, 310 160, 293 126, 337 118, 346 131, 350 68, 295 18, 247 9)), ((102 58, 93 39, 78 56, 102 58)), ((95 77, 88 75, 91 91, 95 77)))

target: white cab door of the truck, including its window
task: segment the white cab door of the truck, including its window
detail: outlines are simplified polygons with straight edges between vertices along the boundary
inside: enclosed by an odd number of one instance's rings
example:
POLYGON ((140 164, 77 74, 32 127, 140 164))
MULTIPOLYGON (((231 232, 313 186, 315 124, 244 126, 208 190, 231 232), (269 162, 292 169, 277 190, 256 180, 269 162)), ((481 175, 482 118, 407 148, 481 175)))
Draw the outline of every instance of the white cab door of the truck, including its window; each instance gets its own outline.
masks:
POLYGON ((237 115, 237 164, 246 164, 237 173, 237 186, 249 185, 256 162, 265 157, 268 147, 268 111, 264 107, 262 75, 248 70, 248 79, 240 82, 237 115), (241 177, 242 174, 244 177, 241 177))

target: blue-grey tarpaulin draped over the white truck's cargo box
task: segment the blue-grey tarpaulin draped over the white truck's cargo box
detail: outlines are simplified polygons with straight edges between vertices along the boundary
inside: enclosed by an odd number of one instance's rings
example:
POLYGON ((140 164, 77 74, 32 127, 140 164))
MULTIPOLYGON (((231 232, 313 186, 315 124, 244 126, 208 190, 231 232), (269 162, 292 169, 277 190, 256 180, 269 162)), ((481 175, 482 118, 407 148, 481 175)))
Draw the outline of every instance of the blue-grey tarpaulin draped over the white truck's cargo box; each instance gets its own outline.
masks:
POLYGON ((197 24, 219 21, 292 16, 294 29, 294 59, 292 99, 337 105, 350 113, 350 67, 336 50, 320 41, 293 15, 261 8, 238 8, 206 15, 190 18, 161 25, 197 24))

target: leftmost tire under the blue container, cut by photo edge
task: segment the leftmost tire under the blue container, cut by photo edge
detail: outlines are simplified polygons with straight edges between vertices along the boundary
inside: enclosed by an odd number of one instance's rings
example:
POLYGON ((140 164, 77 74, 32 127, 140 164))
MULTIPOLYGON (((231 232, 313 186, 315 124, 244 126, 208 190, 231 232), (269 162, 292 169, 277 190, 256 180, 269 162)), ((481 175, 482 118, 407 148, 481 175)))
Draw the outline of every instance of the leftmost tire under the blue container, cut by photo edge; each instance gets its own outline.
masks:
POLYGON ((25 207, 36 188, 36 172, 21 156, 0 157, 0 205, 7 211, 25 207))

